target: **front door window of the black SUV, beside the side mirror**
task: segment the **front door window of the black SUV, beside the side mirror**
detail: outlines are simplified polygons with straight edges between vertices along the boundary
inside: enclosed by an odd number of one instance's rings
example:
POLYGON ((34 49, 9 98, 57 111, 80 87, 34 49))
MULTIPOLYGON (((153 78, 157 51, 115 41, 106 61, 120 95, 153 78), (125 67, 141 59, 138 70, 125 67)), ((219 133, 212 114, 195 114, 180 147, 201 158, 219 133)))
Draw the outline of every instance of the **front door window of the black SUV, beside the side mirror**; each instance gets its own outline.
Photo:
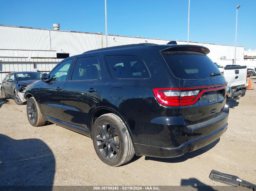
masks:
POLYGON ((55 68, 51 74, 50 74, 50 81, 65 81, 68 69, 71 65, 73 60, 67 60, 65 62, 62 62, 60 65, 55 68))

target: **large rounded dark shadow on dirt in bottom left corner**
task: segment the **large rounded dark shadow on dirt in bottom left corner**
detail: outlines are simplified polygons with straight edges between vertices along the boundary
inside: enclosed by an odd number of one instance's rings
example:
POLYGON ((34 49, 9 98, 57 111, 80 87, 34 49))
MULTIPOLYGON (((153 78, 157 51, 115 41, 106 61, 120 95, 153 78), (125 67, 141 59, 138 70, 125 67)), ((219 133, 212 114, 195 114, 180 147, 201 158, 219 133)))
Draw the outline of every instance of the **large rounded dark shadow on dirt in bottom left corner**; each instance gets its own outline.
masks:
POLYGON ((55 158, 43 141, 0 134, 0 186, 47 186, 52 190, 54 174, 55 158))

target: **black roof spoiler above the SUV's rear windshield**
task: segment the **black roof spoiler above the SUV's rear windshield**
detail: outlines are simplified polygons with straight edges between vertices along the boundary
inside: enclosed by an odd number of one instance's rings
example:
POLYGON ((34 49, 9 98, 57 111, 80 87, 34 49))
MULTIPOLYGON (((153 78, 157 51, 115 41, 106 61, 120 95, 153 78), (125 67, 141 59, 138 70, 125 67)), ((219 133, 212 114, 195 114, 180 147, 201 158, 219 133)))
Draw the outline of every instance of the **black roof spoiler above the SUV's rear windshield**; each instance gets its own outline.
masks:
POLYGON ((160 52, 165 51, 192 51, 192 52, 199 52, 208 54, 210 50, 204 46, 198 45, 160 45, 158 46, 160 52))

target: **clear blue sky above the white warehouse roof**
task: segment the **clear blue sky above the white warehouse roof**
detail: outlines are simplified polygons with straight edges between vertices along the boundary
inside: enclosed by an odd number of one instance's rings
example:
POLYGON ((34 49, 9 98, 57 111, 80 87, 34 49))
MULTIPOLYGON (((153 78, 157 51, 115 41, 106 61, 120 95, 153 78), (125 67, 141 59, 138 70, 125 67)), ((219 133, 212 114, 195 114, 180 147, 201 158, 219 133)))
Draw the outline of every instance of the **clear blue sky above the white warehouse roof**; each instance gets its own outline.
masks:
MULTIPOLYGON (((256 0, 191 0, 190 41, 256 49, 256 0)), ((0 24, 105 33, 104 0, 0 0, 0 24)), ((188 0, 107 0, 108 34, 187 40, 188 0)))

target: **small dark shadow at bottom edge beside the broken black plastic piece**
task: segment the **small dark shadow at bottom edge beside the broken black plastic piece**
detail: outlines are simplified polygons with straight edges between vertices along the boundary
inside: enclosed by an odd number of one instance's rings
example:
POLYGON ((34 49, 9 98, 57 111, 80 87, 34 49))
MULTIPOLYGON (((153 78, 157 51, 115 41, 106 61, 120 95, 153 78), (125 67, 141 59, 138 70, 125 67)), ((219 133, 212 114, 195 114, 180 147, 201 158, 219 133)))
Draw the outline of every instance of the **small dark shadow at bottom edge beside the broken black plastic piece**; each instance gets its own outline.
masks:
POLYGON ((211 186, 202 183, 196 178, 181 179, 181 186, 191 186, 193 188, 196 188, 197 191, 215 191, 215 189, 213 189, 211 186))

